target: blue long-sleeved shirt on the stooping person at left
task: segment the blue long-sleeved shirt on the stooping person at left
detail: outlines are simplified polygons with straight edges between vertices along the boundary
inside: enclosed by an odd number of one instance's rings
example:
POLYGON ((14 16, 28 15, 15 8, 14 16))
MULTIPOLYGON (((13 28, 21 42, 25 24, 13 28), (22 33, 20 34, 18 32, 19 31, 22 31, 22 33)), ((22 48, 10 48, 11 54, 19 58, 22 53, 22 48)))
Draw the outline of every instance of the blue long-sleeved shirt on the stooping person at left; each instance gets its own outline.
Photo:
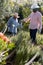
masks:
POLYGON ((19 25, 18 23, 18 19, 14 18, 14 17, 11 17, 9 20, 8 20, 8 23, 7 23, 7 26, 8 26, 8 30, 12 33, 15 32, 15 28, 17 28, 19 25))

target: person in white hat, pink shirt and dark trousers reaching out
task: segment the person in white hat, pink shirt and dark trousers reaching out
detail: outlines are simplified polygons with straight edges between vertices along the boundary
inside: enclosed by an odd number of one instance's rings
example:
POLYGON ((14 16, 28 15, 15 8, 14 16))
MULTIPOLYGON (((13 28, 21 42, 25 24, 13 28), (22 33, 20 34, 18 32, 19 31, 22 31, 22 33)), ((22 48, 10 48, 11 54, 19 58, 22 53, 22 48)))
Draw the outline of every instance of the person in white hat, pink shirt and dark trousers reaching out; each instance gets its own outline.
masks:
POLYGON ((37 4, 33 4, 31 6, 32 13, 30 16, 24 19, 25 22, 28 22, 30 20, 30 37, 33 43, 36 43, 36 33, 37 29, 42 29, 42 15, 38 11, 39 6, 37 4))

